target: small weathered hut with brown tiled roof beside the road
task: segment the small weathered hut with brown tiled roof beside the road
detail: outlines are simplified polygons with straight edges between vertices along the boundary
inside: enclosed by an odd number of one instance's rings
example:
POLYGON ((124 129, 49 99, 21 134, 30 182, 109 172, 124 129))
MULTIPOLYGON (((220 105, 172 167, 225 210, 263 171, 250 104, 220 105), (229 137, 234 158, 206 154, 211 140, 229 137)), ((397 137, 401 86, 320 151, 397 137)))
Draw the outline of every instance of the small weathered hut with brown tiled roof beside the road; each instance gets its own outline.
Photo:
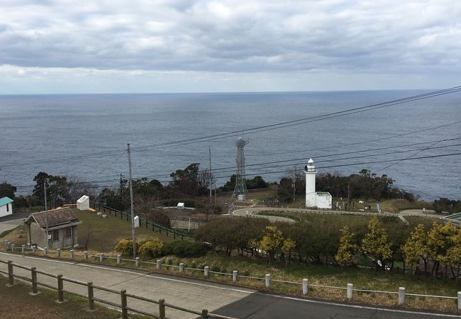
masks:
POLYGON ((77 246, 77 225, 82 220, 70 208, 57 208, 40 213, 32 213, 24 220, 30 245, 49 249, 77 246), (48 245, 46 228, 48 224, 48 245))

